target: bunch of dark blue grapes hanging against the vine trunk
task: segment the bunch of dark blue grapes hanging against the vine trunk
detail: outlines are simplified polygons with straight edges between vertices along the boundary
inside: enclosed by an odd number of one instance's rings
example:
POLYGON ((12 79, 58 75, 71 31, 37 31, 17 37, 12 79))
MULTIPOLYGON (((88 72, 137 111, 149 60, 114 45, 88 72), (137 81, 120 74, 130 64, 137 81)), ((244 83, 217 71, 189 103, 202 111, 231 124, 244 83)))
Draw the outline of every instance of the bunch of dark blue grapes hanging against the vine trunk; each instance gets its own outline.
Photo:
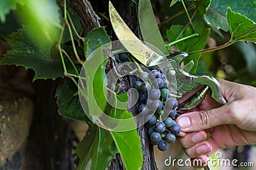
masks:
POLYGON ((145 125, 148 127, 152 145, 157 145, 159 150, 165 151, 169 143, 175 141, 175 135, 180 132, 180 126, 174 120, 177 114, 177 99, 169 97, 168 80, 160 71, 152 70, 149 74, 143 72, 139 77, 141 79, 134 84, 139 92, 138 113, 147 115, 148 122, 145 125), (150 113, 152 110, 154 112, 150 113), (163 113, 168 114, 164 121, 161 120, 163 113))

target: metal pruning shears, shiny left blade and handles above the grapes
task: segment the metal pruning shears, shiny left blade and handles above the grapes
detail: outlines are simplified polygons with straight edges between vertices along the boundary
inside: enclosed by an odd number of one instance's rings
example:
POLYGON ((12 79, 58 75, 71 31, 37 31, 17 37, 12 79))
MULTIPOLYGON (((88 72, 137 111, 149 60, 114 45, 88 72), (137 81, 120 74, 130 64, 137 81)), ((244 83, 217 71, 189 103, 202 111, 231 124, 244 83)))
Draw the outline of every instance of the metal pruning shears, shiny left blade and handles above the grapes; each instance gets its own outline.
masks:
MULTIPOLYGON (((121 41, 122 45, 131 52, 131 54, 144 66, 149 69, 156 68, 159 64, 166 62, 166 59, 170 62, 172 69, 175 71, 176 81, 177 81, 177 92, 182 97, 182 94, 193 90, 194 85, 204 85, 198 92, 190 96, 186 101, 179 104, 177 108, 177 113, 180 115, 186 113, 189 110, 195 108, 204 99, 205 94, 209 89, 211 89, 211 97, 220 103, 221 105, 226 104, 227 101, 223 97, 220 84, 213 77, 207 74, 189 74, 182 67, 183 60, 188 57, 186 52, 177 52, 168 56, 159 55, 159 53, 154 52, 145 43, 140 41, 134 33, 125 24, 124 20, 120 17, 118 12, 115 10, 113 4, 109 1, 109 17, 111 20, 111 25, 115 34, 119 40, 124 39, 134 39, 134 41, 121 41), (134 52, 134 48, 137 49, 138 53, 134 52), (141 55, 143 53, 143 55, 141 55)), ((209 166, 204 167, 205 170, 209 170, 209 166)))

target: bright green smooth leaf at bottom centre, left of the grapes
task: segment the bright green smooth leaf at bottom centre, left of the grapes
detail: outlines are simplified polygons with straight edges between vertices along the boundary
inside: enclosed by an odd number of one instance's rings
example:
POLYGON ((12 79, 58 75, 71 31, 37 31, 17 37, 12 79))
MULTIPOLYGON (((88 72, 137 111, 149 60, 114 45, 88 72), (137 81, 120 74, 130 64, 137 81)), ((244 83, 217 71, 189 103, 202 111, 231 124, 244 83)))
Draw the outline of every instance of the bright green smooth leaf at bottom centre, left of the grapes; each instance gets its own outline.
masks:
MULTIPOLYGON (((122 114, 122 118, 131 117, 131 113, 129 113, 127 110, 122 114)), ((143 165, 143 154, 140 145, 140 136, 138 136, 136 129, 127 132, 110 132, 110 134, 114 139, 116 148, 122 157, 125 169, 141 169, 143 165)))

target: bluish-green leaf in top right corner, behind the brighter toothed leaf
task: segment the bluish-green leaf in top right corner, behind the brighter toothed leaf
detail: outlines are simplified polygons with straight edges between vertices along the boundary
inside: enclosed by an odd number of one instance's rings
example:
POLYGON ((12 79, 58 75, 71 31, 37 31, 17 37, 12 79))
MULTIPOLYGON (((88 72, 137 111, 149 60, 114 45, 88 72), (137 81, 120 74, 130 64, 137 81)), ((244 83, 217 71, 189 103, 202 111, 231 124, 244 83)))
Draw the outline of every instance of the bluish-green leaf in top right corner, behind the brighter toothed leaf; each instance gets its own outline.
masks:
POLYGON ((214 0, 211 2, 210 10, 205 14, 205 19, 208 24, 228 31, 228 23, 226 16, 227 7, 230 6, 232 10, 241 13, 253 21, 256 21, 256 3, 253 0, 243 1, 221 1, 214 0))

